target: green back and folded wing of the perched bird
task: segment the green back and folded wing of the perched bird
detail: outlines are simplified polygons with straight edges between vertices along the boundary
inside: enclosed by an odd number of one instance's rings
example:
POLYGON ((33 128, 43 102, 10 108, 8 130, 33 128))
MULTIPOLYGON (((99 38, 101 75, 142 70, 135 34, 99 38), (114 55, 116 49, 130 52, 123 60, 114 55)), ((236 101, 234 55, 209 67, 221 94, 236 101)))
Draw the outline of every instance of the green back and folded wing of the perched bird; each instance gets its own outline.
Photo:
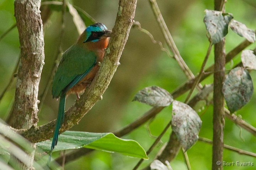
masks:
POLYGON ((71 46, 62 55, 62 60, 53 78, 52 95, 59 97, 78 83, 96 64, 96 55, 78 45, 71 46), (67 89, 68 88, 68 89, 67 89))

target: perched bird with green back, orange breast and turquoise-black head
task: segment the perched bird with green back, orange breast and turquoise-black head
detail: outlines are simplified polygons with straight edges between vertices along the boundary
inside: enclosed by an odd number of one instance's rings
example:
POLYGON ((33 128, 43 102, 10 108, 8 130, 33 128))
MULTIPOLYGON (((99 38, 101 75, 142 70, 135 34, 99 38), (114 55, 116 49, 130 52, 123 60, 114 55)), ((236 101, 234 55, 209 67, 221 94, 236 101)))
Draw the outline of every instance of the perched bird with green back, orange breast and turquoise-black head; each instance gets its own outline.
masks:
POLYGON ((53 98, 60 99, 48 166, 52 150, 58 142, 59 129, 64 122, 66 96, 75 93, 79 99, 79 93, 90 85, 100 68, 98 64, 103 60, 110 35, 111 31, 105 25, 95 23, 87 27, 77 42, 62 55, 52 84, 53 98))

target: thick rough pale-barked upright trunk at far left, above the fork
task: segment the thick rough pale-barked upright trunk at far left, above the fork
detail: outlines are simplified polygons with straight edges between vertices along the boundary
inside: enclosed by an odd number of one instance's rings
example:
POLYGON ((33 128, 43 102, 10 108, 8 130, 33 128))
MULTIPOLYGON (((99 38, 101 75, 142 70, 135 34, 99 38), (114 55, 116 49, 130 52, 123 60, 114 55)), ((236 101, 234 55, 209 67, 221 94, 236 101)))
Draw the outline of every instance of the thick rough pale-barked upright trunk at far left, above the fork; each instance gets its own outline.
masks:
POLYGON ((13 110, 16 128, 30 128, 38 121, 37 95, 44 61, 40 2, 16 0, 14 3, 21 48, 13 110))

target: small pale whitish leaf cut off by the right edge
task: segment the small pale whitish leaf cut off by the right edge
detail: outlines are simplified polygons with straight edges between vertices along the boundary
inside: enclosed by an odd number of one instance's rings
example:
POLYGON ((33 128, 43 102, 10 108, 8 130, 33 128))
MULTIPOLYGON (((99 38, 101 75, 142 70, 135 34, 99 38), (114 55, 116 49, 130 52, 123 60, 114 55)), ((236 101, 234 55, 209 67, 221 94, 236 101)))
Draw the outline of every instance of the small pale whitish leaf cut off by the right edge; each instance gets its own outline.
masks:
POLYGON ((256 70, 256 56, 252 50, 243 50, 241 54, 242 64, 245 68, 256 70))

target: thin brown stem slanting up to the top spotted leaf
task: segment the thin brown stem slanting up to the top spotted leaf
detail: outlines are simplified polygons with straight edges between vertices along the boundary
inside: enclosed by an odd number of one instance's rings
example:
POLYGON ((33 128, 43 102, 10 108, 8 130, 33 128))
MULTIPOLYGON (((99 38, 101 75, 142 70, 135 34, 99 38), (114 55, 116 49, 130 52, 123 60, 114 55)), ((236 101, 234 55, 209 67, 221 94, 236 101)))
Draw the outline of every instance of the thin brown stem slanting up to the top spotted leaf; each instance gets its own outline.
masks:
POLYGON ((206 57, 204 58, 204 61, 203 61, 203 64, 202 64, 202 66, 201 66, 201 70, 200 70, 200 72, 199 72, 199 75, 196 77, 196 79, 195 79, 195 81, 194 81, 194 83, 193 83, 193 85, 192 85, 192 87, 191 87, 191 89, 190 89, 190 92, 188 93, 187 98, 186 98, 186 100, 185 100, 184 103, 187 103, 187 102, 188 102, 188 100, 189 100, 191 94, 192 94, 193 91, 194 91, 194 88, 195 88, 195 87, 197 86, 197 84, 199 83, 199 81, 200 81, 200 79, 201 79, 201 77, 202 77, 202 75, 203 75, 203 70, 204 70, 204 67, 205 67, 205 65, 206 65, 206 62, 207 62, 207 60, 208 60, 208 58, 209 58, 209 55, 210 55, 210 51, 211 51, 211 50, 212 50, 212 43, 209 44, 209 47, 208 47, 208 50, 207 50, 207 53, 206 53, 206 57))

